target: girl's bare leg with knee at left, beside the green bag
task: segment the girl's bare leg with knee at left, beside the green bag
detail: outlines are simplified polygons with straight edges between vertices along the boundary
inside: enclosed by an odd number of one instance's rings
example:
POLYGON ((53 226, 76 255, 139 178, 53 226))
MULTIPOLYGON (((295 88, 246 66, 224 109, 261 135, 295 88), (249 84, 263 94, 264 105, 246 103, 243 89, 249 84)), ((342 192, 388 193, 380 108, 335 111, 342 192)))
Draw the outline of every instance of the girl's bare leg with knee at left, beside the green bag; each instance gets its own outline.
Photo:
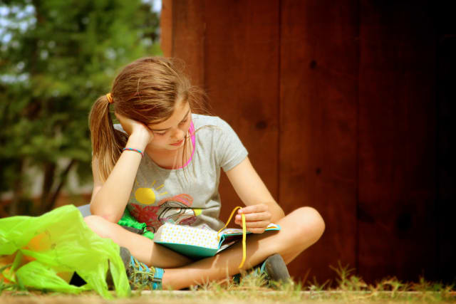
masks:
POLYGON ((86 216, 84 220, 96 234, 102 238, 112 239, 119 246, 128 248, 135 258, 147 266, 174 268, 192 263, 190 258, 163 246, 157 246, 151 239, 130 232, 101 216, 86 216))

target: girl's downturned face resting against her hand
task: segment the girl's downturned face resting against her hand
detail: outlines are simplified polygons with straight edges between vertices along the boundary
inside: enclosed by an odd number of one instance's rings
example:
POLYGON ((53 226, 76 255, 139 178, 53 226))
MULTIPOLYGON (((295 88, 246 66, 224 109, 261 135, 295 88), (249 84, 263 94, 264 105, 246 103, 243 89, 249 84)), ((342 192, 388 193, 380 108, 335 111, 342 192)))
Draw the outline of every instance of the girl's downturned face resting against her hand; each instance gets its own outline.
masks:
POLYGON ((191 115, 189 103, 179 101, 170 118, 157 124, 147 124, 154 135, 149 146, 155 150, 179 150, 190 128, 191 115))

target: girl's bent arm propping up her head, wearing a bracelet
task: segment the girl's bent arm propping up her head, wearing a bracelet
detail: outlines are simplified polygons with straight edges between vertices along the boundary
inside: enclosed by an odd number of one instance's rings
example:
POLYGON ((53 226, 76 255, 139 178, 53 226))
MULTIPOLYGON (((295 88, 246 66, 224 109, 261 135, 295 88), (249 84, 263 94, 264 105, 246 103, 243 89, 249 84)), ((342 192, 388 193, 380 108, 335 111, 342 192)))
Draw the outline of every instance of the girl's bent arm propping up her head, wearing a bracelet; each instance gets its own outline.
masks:
MULTIPOLYGON (((126 147, 144 152, 146 145, 152 140, 152 132, 139 122, 120 117, 120 115, 118 118, 124 130, 130 134, 126 147)), ((98 159, 93 157, 93 192, 90 201, 92 214, 102 216, 113 223, 117 223, 122 218, 141 158, 142 156, 138 152, 124 151, 120 154, 108 179, 103 182, 100 179, 98 159)))

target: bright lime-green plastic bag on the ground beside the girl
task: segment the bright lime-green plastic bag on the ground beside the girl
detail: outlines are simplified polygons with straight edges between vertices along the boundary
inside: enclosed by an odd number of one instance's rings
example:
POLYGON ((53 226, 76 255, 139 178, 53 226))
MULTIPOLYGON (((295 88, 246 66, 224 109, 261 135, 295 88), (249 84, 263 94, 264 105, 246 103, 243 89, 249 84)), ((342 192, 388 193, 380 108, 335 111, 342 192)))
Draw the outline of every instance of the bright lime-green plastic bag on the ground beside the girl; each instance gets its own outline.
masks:
POLYGON ((73 205, 37 217, 0 219, 0 281, 63 293, 95 290, 113 298, 105 281, 108 264, 116 294, 130 295, 119 246, 88 228, 73 205), (75 271, 86 285, 68 283, 75 271))

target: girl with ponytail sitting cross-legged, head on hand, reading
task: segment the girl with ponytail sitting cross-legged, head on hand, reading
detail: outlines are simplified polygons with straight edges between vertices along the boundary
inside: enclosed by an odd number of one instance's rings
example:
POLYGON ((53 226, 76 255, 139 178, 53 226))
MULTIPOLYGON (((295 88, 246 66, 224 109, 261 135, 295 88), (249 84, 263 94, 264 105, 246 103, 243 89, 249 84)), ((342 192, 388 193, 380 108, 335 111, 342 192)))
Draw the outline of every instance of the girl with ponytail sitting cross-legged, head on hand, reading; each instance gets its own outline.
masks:
POLYGON ((246 205, 235 223, 241 225, 244 214, 247 230, 253 233, 247 238, 244 269, 272 256, 266 260, 266 276, 276 278, 274 269, 283 276, 288 273, 283 261, 291 262, 323 234, 323 219, 311 207, 284 215, 227 122, 194 114, 202 96, 175 61, 142 58, 120 72, 111 92, 98 98, 90 112, 93 215, 85 218, 86 223, 96 234, 118 243, 123 255, 131 253, 127 271, 133 283, 138 283, 138 271, 147 273, 139 283, 174 289, 239 273, 240 243, 217 256, 192 261, 116 224, 128 208, 150 231, 165 221, 222 228, 220 168, 246 205), (113 125, 110 108, 120 125, 113 125), (261 234, 271 222, 281 231, 261 234))

